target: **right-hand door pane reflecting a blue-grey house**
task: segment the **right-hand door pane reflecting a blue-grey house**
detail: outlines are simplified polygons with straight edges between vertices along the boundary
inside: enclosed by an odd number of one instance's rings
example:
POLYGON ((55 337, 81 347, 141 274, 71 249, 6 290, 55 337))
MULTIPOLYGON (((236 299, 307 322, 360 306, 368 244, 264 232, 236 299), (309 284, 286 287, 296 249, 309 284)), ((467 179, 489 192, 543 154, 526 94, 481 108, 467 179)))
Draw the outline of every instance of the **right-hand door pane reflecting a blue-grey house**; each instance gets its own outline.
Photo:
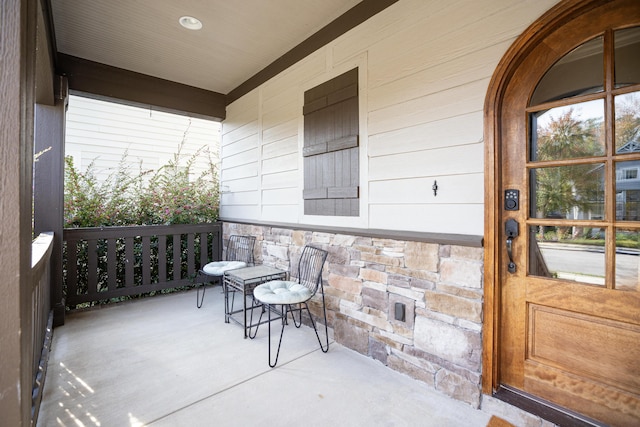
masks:
POLYGON ((616 219, 640 221, 640 160, 616 163, 616 219))

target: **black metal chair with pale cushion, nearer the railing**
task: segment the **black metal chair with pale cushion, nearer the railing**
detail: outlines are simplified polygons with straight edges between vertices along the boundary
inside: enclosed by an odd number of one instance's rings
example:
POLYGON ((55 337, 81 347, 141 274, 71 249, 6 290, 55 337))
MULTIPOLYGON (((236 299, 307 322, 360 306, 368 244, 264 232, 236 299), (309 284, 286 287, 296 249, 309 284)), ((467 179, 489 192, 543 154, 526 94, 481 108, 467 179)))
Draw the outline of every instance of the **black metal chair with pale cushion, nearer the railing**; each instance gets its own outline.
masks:
MULTIPOLYGON (((227 243, 226 261, 210 262, 202 267, 200 272, 211 278, 208 283, 221 282, 225 272, 253 265, 253 247, 255 244, 255 236, 230 236, 227 243)), ((196 294, 196 306, 198 308, 202 307, 204 302, 204 293, 207 290, 206 285, 207 283, 204 283, 198 288, 196 294), (200 297, 201 288, 202 298, 200 297)))

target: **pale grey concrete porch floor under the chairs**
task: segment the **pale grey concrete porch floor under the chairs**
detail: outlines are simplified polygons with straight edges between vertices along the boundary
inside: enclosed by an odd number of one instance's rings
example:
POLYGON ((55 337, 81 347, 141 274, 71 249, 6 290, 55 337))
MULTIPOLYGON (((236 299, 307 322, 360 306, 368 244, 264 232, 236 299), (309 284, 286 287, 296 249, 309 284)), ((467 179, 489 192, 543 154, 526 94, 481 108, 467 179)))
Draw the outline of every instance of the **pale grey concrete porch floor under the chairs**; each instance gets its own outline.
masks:
MULTIPOLYGON (((274 324, 273 326, 276 326, 274 324)), ((277 338, 278 328, 272 334, 277 338)), ((54 330, 38 426, 486 426, 491 414, 287 326, 267 364, 267 328, 224 323, 220 287, 67 316, 54 330)))

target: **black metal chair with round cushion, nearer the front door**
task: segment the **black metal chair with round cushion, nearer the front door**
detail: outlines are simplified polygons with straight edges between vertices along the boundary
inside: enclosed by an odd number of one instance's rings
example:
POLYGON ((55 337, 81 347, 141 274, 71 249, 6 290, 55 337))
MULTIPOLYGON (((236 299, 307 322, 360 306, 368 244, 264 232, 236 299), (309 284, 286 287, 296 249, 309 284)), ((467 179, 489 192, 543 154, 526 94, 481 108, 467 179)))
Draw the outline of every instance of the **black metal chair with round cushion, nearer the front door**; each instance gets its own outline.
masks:
MULTIPOLYGON (((322 285, 322 268, 324 262, 327 259, 327 251, 315 248, 313 246, 305 246, 302 250, 302 255, 298 261, 298 277, 297 281, 293 280, 273 280, 271 282, 263 283, 256 286, 253 290, 253 297, 263 305, 263 310, 260 314, 260 319, 256 324, 256 329, 253 336, 255 338, 258 333, 258 327, 262 321, 262 315, 266 311, 269 319, 266 322, 269 325, 269 366, 275 367, 278 363, 278 356, 280 355, 280 345, 282 344, 282 335, 284 334, 284 327, 287 324, 287 314, 291 313, 291 318, 296 328, 302 325, 302 311, 306 309, 309 319, 311 320, 311 326, 316 333, 320 349, 323 353, 329 351, 329 331, 327 327, 327 310, 324 303, 324 287, 322 285), (313 320, 309 305, 307 302, 313 298, 314 295, 320 291, 322 295, 322 313, 324 315, 324 332, 326 342, 323 345, 320 335, 318 334, 318 328, 316 322, 313 320), (278 310, 278 306, 280 309, 278 310), (298 319, 296 320, 295 313, 298 313, 298 319), (271 315, 277 313, 278 318, 282 320, 282 329, 280 331, 280 341, 278 342, 278 351, 276 352, 276 358, 271 361, 271 315)), ((275 318, 273 320, 277 320, 275 318)))

